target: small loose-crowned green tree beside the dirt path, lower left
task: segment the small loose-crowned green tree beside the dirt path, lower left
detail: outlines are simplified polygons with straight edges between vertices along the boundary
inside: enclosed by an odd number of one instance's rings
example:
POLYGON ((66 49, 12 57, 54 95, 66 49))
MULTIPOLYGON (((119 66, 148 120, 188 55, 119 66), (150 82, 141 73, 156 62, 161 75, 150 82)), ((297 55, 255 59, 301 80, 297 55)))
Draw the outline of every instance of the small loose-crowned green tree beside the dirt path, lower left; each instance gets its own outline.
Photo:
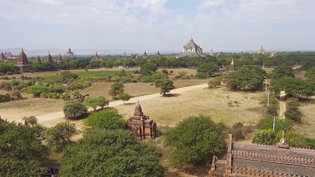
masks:
POLYGON ((46 144, 51 146, 56 146, 62 142, 63 147, 71 142, 71 137, 75 133, 75 123, 61 122, 56 126, 51 127, 46 130, 46 144))

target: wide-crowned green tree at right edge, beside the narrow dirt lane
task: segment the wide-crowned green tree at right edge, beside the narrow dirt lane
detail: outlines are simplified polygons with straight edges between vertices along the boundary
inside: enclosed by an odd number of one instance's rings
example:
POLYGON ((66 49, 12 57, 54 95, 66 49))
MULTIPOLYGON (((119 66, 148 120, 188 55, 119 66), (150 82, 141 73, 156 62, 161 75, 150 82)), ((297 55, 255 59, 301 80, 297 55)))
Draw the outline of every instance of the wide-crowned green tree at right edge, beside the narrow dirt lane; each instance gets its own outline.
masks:
POLYGON ((285 91, 294 97, 311 97, 315 95, 315 86, 302 79, 283 77, 270 82, 270 87, 274 93, 285 91))

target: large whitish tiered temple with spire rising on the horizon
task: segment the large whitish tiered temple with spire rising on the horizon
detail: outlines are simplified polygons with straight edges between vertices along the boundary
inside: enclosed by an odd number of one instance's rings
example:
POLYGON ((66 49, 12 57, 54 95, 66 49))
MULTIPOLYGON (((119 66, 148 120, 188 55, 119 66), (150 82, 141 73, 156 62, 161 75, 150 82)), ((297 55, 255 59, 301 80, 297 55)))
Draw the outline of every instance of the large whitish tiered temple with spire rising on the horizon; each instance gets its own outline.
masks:
POLYGON ((183 53, 181 52, 179 55, 176 56, 176 58, 180 57, 204 57, 205 55, 202 53, 202 48, 200 48, 199 45, 197 45, 191 36, 191 39, 189 42, 184 45, 183 47, 183 53))

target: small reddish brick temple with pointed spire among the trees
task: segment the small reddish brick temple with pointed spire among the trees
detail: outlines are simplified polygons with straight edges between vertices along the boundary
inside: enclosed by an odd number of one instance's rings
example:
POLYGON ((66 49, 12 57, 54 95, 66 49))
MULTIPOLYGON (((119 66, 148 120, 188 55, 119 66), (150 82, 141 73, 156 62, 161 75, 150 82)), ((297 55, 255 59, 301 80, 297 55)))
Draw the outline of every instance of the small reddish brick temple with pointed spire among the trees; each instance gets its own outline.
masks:
POLYGON ((127 127, 141 139, 157 138, 157 124, 142 112, 139 101, 134 109, 133 116, 128 118, 127 127))

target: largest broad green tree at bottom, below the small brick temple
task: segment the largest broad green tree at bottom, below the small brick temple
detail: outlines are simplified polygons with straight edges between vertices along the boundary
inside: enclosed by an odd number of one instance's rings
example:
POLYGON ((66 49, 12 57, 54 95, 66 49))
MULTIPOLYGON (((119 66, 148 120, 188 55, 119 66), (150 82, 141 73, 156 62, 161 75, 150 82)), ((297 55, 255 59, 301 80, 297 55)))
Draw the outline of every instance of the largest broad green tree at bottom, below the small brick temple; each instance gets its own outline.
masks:
POLYGON ((63 152, 63 177, 164 177, 161 151, 126 130, 95 129, 63 152))

